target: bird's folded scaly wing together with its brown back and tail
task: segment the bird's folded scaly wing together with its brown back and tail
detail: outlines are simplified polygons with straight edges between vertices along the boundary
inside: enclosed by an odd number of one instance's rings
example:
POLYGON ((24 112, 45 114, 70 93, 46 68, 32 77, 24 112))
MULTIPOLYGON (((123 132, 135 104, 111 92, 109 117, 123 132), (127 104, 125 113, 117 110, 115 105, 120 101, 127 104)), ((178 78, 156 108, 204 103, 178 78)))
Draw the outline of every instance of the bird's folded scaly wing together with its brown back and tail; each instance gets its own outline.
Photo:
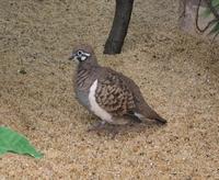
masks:
POLYGON ((151 119, 166 123, 148 105, 140 89, 131 79, 111 68, 103 68, 102 70, 95 93, 100 106, 115 116, 137 116, 140 120, 151 119))

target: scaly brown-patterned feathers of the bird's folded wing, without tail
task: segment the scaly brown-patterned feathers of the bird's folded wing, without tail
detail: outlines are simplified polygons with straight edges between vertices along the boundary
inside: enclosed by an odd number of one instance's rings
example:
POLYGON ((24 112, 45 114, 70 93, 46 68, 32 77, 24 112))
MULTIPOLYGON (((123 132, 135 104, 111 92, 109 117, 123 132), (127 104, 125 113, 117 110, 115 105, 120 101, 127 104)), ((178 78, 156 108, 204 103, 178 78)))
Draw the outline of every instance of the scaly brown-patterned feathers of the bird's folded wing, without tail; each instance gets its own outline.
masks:
POLYGON ((110 68, 104 70, 104 76, 99 78, 95 91, 96 102, 106 112, 115 116, 130 114, 136 105, 127 81, 120 74, 110 68))

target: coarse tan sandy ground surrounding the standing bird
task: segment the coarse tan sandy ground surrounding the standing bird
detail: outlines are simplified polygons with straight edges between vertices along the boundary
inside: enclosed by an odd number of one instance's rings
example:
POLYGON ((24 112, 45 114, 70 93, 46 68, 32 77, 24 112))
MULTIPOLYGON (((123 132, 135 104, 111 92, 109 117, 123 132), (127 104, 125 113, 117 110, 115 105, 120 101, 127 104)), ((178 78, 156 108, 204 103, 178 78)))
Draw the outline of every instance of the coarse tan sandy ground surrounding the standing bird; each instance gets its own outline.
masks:
POLYGON ((44 153, 0 157, 0 179, 219 179, 219 47, 177 30, 177 1, 136 0, 123 54, 103 55, 114 0, 0 1, 0 124, 44 153), (88 133, 71 47, 135 79, 169 123, 88 133), (19 70, 25 69, 26 74, 19 70))

